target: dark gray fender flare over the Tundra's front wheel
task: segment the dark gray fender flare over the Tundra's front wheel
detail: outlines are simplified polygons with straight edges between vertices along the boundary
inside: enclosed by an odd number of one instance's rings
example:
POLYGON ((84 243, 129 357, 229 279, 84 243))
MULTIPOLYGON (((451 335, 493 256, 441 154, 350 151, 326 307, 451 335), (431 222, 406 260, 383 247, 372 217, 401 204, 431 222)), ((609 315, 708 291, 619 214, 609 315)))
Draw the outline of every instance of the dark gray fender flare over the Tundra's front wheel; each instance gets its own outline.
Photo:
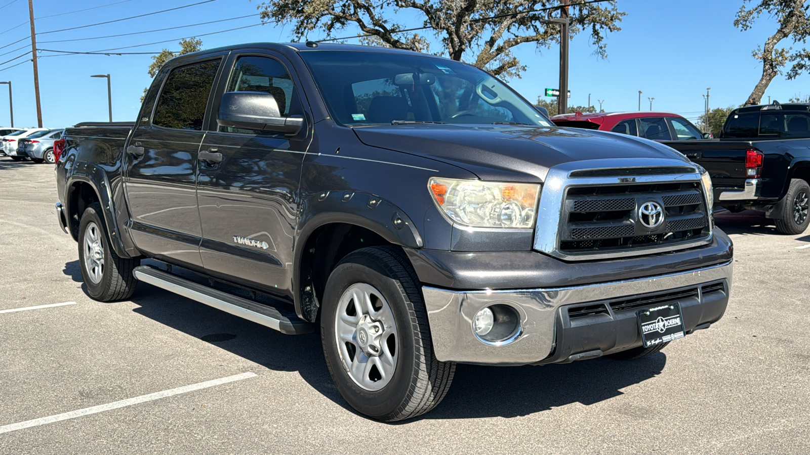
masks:
MULTIPOLYGON (((305 246, 310 236, 327 224, 343 223, 359 226, 376 233, 393 245, 420 249, 424 240, 410 217, 394 203, 370 193, 358 191, 324 191, 307 198, 302 204, 302 216, 296 235, 292 285, 298 317, 313 320, 313 291, 305 290, 301 283, 301 270, 305 266, 305 246), (309 294, 307 294, 309 292, 309 294), (307 302, 307 304, 304 304, 307 302)), ((317 308, 316 308, 317 309, 317 308)))

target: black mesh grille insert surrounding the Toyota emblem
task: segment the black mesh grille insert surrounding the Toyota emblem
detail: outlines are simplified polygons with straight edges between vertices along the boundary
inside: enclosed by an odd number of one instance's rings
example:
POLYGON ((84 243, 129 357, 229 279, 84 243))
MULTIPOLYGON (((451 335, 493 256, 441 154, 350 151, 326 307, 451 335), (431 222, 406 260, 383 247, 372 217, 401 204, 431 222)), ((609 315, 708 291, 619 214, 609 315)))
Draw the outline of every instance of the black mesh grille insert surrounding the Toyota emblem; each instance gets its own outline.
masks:
POLYGON ((569 187, 562 206, 561 253, 589 254, 679 245, 710 235, 701 183, 661 182, 569 187), (639 208, 655 202, 663 222, 647 228, 639 208))

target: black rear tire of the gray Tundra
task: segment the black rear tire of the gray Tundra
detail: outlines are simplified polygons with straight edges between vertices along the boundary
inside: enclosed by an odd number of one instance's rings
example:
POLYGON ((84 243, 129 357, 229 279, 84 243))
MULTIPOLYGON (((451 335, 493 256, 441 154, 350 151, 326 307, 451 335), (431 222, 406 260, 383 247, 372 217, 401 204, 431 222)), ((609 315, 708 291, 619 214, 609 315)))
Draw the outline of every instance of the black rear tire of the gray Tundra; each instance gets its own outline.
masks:
MULTIPOLYGON (((89 253, 92 254, 92 253, 89 253)), ((95 300, 112 302, 124 300, 132 296, 138 281, 134 278, 132 270, 140 265, 140 259, 127 259, 119 257, 109 244, 107 223, 104 223, 101 206, 93 202, 82 214, 79 223, 79 269, 87 286, 87 294, 95 300), (96 278, 93 278, 92 266, 87 261, 87 238, 94 236, 91 232, 95 227, 95 237, 98 240, 97 248, 103 254, 104 265, 98 268, 96 278)))

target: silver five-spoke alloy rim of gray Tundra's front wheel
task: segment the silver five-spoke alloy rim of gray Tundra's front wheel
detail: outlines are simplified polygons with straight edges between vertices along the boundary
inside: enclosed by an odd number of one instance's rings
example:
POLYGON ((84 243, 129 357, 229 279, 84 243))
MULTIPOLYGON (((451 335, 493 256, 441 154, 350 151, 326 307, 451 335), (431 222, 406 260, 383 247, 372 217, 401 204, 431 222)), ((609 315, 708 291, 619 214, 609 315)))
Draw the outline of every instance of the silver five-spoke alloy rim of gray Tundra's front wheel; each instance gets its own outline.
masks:
POLYGON ((356 385, 369 391, 388 385, 399 359, 399 334, 394 313, 380 291, 355 283, 343 292, 335 338, 343 368, 356 385))

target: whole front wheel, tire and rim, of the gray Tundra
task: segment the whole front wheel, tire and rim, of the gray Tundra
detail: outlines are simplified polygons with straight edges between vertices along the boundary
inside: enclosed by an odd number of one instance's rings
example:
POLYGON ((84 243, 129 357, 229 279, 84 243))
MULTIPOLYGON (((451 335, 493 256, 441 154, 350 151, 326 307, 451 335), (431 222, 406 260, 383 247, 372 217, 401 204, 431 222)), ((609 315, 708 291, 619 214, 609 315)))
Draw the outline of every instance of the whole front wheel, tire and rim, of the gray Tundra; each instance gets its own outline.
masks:
POLYGON ((326 283, 321 341, 340 394, 373 419, 422 415, 450 389, 455 364, 433 355, 419 279, 397 249, 360 249, 326 283))

